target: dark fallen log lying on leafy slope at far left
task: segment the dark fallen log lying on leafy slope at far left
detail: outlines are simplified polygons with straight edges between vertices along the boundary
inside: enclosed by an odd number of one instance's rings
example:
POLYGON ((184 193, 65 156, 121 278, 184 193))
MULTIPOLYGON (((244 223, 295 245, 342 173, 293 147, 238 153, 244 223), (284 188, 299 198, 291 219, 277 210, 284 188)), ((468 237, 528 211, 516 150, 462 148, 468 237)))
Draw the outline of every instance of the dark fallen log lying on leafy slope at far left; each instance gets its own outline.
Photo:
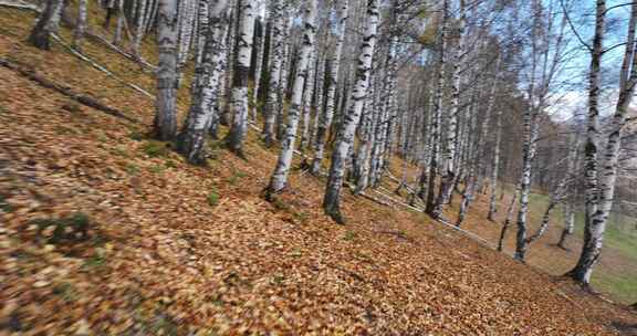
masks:
POLYGON ((106 106, 91 96, 87 96, 87 95, 84 95, 81 93, 76 93, 67 86, 64 86, 62 84, 58 84, 51 80, 48 80, 31 69, 24 69, 24 67, 15 64, 15 63, 12 63, 8 60, 4 60, 4 59, 0 59, 0 65, 19 73, 20 75, 40 84, 42 87, 53 90, 53 91, 59 92, 59 93, 61 93, 61 94, 63 94, 70 98, 73 98, 82 105, 92 107, 94 109, 104 112, 111 116, 123 118, 123 119, 132 122, 132 123, 139 123, 137 119, 125 115, 121 111, 113 108, 113 107, 109 107, 109 106, 106 106))

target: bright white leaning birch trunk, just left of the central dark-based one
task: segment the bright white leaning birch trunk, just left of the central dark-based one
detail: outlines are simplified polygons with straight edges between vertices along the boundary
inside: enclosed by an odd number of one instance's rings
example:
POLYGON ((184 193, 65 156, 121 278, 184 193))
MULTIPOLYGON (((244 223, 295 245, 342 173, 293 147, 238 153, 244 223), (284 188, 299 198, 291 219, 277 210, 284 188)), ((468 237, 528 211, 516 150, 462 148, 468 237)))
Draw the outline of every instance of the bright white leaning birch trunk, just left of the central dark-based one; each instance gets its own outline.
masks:
POLYGON ((267 189, 268 198, 274 193, 281 192, 288 185, 288 175, 292 166, 292 157, 294 155, 294 143, 296 141, 296 133, 299 129, 299 118, 303 104, 303 87, 307 78, 310 70, 310 62, 314 51, 314 43, 316 36, 316 4, 317 0, 310 0, 305 9, 305 28, 303 29, 303 45, 301 48, 301 57, 296 63, 296 71, 294 76, 294 86, 292 91, 292 104, 288 113, 288 127, 285 127, 285 137, 281 141, 281 153, 276 161, 276 167, 270 179, 270 185, 267 189))

